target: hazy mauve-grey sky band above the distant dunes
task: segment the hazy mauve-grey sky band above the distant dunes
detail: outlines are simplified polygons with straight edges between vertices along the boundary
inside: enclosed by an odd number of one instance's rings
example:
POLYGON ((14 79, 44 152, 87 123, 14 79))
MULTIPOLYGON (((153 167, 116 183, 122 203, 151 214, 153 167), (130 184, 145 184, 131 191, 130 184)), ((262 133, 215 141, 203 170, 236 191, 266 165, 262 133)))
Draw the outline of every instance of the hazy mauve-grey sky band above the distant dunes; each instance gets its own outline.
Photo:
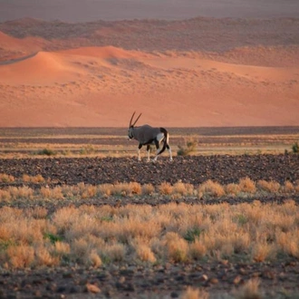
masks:
POLYGON ((0 22, 22 17, 87 22, 195 16, 299 17, 299 0, 0 0, 0 22))

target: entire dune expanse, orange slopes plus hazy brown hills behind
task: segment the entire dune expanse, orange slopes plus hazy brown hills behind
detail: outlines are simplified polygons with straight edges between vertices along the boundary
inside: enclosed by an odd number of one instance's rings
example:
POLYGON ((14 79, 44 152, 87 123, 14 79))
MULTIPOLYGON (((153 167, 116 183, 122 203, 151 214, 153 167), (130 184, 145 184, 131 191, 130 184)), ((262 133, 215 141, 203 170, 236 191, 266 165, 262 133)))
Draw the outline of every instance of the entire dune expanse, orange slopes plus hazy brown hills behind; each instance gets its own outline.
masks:
POLYGON ((133 111, 154 126, 298 126, 298 5, 254 4, 220 15, 211 2, 213 16, 195 18, 5 20, 0 127, 126 127, 133 111))

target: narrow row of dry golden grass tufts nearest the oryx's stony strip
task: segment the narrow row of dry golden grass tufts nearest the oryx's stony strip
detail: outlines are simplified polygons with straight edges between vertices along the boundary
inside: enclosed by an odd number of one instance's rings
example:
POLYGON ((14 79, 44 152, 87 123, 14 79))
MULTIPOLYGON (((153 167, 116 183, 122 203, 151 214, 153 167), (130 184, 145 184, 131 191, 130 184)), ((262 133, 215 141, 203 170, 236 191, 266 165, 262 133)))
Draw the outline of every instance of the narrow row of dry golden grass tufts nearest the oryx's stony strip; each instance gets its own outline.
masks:
POLYGON ((203 199, 229 197, 263 197, 267 194, 289 194, 290 196, 299 192, 299 183, 285 181, 280 185, 273 180, 253 181, 250 178, 241 178, 238 183, 221 185, 218 182, 208 179, 199 184, 198 187, 183 183, 178 180, 175 184, 162 182, 154 187, 152 184, 140 185, 138 182, 101 184, 93 186, 79 183, 74 186, 55 186, 53 188, 41 186, 32 189, 27 186, 8 187, 0 189, 0 201, 13 202, 18 199, 41 200, 84 200, 88 198, 109 198, 109 197, 134 197, 134 196, 155 196, 161 195, 172 199, 182 197, 198 197, 203 199))

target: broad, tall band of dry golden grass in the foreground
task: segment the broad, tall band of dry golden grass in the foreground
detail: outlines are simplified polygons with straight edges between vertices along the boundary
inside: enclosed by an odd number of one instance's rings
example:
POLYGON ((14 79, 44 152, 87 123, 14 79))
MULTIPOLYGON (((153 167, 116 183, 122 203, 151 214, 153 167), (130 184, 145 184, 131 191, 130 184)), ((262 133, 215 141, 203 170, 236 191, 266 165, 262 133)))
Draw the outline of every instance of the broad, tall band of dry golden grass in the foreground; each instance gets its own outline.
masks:
POLYGON ((82 205, 54 212, 1 207, 0 266, 299 258, 298 215, 292 200, 281 205, 82 205))

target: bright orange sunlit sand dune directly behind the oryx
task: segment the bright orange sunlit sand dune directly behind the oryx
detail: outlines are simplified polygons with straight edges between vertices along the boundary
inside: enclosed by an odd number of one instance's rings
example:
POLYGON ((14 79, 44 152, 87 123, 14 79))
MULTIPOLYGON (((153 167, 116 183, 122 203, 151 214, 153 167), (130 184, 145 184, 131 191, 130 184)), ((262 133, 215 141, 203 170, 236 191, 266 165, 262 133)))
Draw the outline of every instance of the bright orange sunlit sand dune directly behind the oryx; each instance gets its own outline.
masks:
POLYGON ((158 126, 299 125, 298 65, 86 47, 3 63, 0 84, 1 127, 126 126, 135 110, 158 126))

